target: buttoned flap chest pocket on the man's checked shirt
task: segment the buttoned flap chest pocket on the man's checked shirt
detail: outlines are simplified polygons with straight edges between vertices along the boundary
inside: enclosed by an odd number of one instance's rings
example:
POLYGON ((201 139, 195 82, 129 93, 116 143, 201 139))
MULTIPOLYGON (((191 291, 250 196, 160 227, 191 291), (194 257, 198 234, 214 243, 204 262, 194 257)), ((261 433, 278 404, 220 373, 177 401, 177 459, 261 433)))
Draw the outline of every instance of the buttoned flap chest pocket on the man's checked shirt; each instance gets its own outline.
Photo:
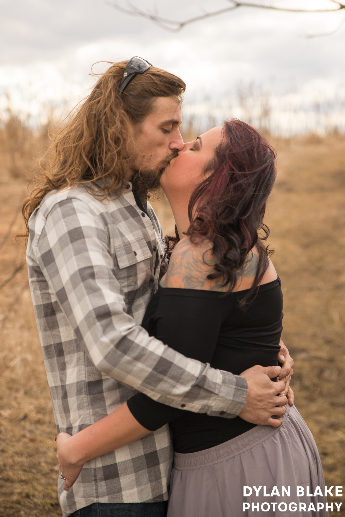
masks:
POLYGON ((125 293, 125 301, 132 303, 142 296, 153 282, 152 252, 143 237, 123 241, 114 247, 118 281, 125 293))

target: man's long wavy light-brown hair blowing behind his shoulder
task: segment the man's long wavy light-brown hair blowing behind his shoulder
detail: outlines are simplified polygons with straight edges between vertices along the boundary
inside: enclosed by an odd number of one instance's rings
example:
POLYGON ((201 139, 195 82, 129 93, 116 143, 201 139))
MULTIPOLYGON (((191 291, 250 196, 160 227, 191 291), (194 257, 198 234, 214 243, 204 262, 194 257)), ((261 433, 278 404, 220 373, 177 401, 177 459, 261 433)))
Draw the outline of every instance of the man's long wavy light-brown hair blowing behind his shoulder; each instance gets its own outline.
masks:
POLYGON ((136 156, 135 130, 140 130, 153 110, 155 98, 173 96, 182 100, 186 89, 182 79, 154 66, 137 74, 119 95, 126 65, 127 61, 111 63, 56 135, 35 178, 38 185, 23 202, 26 235, 29 217, 52 190, 93 185, 89 191, 105 198, 122 188, 136 156), (95 190, 95 182, 99 190, 95 190))

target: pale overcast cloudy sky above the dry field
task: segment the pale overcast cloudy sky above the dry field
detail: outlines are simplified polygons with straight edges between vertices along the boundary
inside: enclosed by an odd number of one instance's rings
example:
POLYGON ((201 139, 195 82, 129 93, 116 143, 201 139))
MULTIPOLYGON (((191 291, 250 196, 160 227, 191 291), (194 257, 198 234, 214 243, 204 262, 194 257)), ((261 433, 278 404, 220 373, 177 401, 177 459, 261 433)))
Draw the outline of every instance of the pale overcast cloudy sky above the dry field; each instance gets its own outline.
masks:
MULTIPOLYGON (((125 0, 120 3, 126 6, 125 0)), ((230 5, 228 0, 133 3, 144 10, 156 5, 161 16, 175 20, 230 5)), ((274 5, 329 8, 332 3, 275 0, 274 5)), ((42 103, 75 103, 94 81, 88 75, 93 63, 133 55, 180 75, 189 104, 233 98, 236 85, 250 81, 269 86, 276 96, 345 98, 345 23, 335 34, 323 35, 345 20, 342 11, 244 7, 170 33, 104 0, 1 0, 0 6, 0 94, 9 93, 13 106, 24 111, 39 112, 42 103)))

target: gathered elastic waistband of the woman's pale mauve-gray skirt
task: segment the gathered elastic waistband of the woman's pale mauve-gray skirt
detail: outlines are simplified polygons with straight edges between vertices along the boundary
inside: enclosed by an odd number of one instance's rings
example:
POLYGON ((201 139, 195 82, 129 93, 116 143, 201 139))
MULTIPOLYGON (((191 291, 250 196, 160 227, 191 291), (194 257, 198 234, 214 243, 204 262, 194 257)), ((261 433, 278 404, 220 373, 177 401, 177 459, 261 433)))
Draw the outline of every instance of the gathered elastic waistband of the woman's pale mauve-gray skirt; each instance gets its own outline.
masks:
MULTIPOLYGON (((193 468, 207 467, 222 461, 234 458, 238 454, 242 454, 252 447, 264 442, 267 438, 279 433, 279 430, 286 423, 290 410, 293 409, 287 404, 286 413, 283 416, 283 423, 280 427, 272 427, 272 425, 257 425, 246 433, 240 434, 232 438, 228 442, 216 445, 210 449, 199 452, 190 452, 188 454, 174 453, 174 468, 176 470, 190 470, 193 468)), ((212 418, 212 417, 210 417, 212 418)))

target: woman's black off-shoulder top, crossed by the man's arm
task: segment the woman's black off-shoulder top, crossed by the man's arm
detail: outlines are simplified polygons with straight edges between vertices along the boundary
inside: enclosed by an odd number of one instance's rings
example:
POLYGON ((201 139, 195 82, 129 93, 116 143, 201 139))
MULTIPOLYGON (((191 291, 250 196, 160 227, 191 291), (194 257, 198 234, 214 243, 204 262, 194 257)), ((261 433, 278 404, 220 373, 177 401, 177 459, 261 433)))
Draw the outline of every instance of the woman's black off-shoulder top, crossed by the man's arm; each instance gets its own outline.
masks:
MULTIPOLYGON (((245 311, 238 299, 246 291, 224 293, 159 286, 142 326, 151 336, 187 357, 236 375, 247 368, 276 366, 282 331, 280 279, 259 286, 245 311)), ((170 423, 176 452, 196 452, 227 442, 255 427, 232 419, 192 413, 156 402, 143 393, 127 401, 134 418, 155 431, 170 423)))

